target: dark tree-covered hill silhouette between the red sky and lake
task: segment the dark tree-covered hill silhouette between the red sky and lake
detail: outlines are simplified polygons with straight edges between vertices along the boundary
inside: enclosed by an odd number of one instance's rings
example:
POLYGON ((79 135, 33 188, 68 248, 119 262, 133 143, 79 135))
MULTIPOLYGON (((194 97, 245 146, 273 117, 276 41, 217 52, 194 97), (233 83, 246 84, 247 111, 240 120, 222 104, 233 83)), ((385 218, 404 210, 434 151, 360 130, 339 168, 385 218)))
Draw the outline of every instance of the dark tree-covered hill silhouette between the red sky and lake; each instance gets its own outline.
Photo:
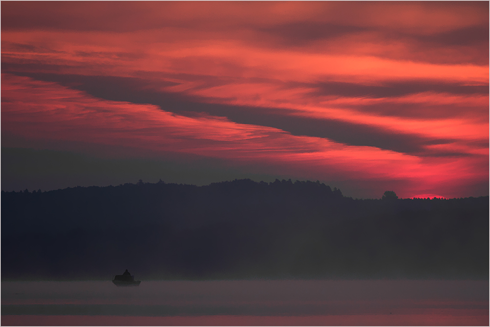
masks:
POLYGON ((1 192, 2 279, 489 277, 489 197, 248 179, 1 192))

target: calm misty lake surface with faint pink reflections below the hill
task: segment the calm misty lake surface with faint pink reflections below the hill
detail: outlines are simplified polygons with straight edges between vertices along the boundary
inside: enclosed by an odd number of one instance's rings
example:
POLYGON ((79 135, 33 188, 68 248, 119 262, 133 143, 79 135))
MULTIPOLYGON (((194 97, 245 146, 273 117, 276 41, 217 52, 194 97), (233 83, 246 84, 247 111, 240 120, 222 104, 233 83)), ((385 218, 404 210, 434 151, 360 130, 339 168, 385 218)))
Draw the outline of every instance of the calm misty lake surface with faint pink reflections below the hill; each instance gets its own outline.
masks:
POLYGON ((8 325, 489 325, 488 281, 2 282, 8 325))

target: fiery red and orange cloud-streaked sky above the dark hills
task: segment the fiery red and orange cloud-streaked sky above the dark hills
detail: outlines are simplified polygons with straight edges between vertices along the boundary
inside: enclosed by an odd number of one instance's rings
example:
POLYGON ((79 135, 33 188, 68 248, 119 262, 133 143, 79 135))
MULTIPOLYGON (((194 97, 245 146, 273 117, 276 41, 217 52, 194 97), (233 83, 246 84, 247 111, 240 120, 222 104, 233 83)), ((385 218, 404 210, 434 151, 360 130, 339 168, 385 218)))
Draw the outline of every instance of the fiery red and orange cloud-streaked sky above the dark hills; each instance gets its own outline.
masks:
POLYGON ((5 191, 485 196, 489 2, 2 1, 1 146, 5 191))

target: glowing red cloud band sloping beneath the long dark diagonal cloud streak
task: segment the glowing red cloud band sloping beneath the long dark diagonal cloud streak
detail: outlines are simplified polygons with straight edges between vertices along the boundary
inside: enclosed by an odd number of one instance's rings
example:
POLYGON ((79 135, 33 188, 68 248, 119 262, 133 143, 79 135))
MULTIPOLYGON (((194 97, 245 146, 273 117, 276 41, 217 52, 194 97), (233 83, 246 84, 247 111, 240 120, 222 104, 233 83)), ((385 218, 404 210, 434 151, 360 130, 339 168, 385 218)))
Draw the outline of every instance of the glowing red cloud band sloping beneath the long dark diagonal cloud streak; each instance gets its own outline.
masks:
POLYGON ((218 117, 184 117, 154 105, 104 101, 56 83, 14 75, 2 75, 2 97, 4 135, 56 141, 63 150, 76 150, 82 142, 143 149, 154 157, 166 152, 192 153, 295 176, 306 172, 325 179, 406 180, 414 190, 398 192, 402 197, 434 185, 443 191, 439 194, 453 194, 454 190, 448 192, 452 189, 449 185, 488 178, 488 171, 481 169, 488 152, 451 160, 421 160, 218 117))

